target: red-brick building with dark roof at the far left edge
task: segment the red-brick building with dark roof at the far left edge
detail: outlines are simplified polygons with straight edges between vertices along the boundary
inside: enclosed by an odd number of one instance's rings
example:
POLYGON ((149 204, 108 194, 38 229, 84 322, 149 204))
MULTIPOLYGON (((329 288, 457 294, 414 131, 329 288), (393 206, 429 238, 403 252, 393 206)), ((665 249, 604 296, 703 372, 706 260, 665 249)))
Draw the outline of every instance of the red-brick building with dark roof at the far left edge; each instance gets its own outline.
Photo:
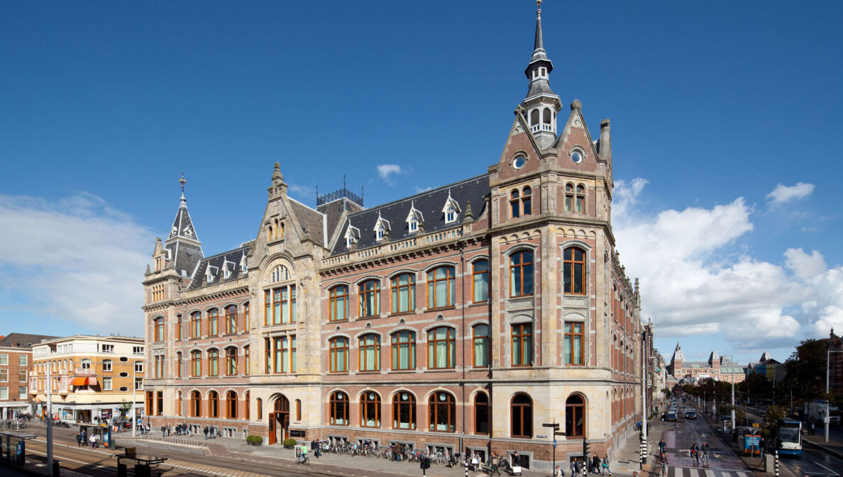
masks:
POLYGON ((0 419, 32 412, 28 389, 32 346, 54 337, 25 333, 0 337, 0 419))

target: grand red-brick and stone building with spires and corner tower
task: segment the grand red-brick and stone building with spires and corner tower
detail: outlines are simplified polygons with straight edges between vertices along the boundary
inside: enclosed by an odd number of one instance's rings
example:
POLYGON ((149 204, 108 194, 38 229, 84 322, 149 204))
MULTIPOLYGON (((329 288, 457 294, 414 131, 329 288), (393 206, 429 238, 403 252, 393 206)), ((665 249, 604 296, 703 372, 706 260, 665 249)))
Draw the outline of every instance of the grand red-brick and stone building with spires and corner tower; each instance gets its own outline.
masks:
POLYGON ((276 164, 258 237, 212 256, 182 190, 144 280, 153 426, 517 450, 545 470, 544 423, 566 431, 562 460, 629 437, 642 324, 611 231, 609 121, 593 139, 574 99, 557 131, 540 12, 528 93, 482 174, 312 208, 276 164))

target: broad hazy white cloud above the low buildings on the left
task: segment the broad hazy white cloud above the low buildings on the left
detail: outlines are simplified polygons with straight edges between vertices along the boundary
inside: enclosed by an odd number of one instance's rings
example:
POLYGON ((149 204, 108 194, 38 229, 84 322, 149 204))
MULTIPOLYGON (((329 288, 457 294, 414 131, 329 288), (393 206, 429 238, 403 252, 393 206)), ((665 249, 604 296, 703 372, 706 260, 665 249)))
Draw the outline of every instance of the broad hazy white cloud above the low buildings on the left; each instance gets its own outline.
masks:
POLYGON ((141 281, 155 244, 148 228, 81 193, 57 202, 0 195, 0 230, 0 280, 14 297, 3 313, 17 307, 85 330, 142 335, 141 281))

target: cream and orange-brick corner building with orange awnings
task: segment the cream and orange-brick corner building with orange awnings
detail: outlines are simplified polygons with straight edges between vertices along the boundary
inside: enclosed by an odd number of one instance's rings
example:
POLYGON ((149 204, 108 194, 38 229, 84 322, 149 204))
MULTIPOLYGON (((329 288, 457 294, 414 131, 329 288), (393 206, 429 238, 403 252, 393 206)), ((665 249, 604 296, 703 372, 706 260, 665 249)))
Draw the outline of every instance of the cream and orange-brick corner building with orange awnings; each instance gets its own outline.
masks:
POLYGON ((144 340, 129 336, 75 335, 33 346, 30 396, 39 415, 97 423, 142 409, 144 340))

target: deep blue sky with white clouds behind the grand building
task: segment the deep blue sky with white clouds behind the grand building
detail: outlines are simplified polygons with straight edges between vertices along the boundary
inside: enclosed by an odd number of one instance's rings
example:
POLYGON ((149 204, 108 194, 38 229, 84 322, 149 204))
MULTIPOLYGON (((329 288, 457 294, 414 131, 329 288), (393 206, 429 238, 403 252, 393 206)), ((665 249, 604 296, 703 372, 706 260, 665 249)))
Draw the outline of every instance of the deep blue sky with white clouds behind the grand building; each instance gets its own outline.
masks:
MULTIPOLYGON (((843 330, 843 3, 543 4, 551 86, 612 121, 615 233, 669 358, 843 330)), ((184 170, 206 254, 342 176, 375 205, 486 171, 534 3, 0 5, 0 334, 139 334, 184 170), (380 166, 380 167, 379 167, 380 166)), ((564 117, 564 115, 563 115, 564 117)))

